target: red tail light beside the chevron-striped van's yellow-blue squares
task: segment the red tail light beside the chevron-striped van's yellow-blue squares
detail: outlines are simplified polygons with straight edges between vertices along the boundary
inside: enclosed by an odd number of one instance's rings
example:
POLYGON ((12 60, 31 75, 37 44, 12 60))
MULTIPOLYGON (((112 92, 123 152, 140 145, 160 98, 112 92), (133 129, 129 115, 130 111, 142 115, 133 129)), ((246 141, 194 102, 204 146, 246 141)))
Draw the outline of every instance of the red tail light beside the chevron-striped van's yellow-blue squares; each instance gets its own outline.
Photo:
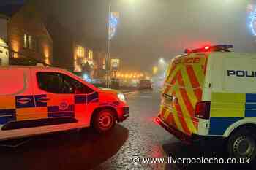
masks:
POLYGON ((209 119, 210 118, 210 101, 200 101, 197 102, 195 107, 195 117, 200 119, 209 119))

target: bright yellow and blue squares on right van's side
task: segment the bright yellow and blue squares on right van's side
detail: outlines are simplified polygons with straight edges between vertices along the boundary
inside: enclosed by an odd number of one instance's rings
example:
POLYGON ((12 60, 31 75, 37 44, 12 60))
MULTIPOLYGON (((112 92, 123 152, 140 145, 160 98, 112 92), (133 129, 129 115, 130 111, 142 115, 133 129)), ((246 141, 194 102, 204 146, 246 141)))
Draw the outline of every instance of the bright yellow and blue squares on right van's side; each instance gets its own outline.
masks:
POLYGON ((256 94, 212 93, 210 135, 223 135, 244 117, 256 117, 256 94))

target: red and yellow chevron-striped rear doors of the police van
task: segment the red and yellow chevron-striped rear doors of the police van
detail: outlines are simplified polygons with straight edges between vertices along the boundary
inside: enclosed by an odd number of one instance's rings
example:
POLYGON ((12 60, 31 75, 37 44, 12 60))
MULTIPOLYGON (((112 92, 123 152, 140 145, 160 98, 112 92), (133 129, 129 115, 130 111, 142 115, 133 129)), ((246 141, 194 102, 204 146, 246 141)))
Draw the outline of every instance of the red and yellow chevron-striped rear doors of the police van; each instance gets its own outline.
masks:
POLYGON ((192 53, 175 58, 167 71, 159 117, 184 134, 197 132, 195 105, 202 99, 206 66, 205 53, 192 53))

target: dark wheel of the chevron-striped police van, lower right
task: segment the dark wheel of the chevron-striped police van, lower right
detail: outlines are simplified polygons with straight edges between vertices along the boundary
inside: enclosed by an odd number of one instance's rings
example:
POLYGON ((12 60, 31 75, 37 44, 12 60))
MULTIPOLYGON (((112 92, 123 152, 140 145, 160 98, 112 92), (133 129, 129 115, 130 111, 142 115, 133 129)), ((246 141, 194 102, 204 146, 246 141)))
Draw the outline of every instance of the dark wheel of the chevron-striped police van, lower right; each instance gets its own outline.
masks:
POLYGON ((243 128, 232 134, 228 139, 227 149, 231 158, 255 159, 256 144, 252 130, 243 128))

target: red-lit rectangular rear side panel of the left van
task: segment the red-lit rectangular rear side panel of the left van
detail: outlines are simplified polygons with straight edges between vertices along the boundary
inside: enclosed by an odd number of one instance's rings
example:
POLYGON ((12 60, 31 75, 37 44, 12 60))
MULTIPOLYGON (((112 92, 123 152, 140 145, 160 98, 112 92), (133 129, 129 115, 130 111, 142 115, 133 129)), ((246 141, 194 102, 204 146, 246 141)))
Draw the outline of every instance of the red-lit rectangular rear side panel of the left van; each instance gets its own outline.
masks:
POLYGON ((26 87, 25 73, 15 69, 0 70, 0 96, 21 93, 26 87))

